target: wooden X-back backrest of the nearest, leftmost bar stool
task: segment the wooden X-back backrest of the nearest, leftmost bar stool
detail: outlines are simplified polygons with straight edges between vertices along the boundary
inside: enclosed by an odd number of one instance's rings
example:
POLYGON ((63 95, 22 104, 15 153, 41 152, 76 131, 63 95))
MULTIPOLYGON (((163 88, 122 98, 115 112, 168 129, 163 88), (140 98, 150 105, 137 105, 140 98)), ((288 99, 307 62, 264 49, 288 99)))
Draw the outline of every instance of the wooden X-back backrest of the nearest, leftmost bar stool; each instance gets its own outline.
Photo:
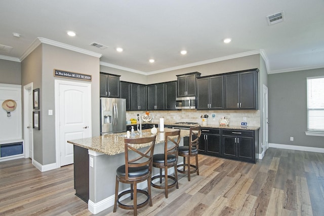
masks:
POLYGON ((152 158, 153 158, 153 152, 154 152, 154 146, 155 146, 155 139, 156 135, 153 137, 143 137, 143 138, 136 138, 136 139, 128 139, 125 138, 125 172, 126 172, 126 180, 129 179, 129 167, 141 167, 148 165, 149 171, 152 172, 152 158), (141 145, 149 144, 147 145, 148 148, 142 148, 141 151, 141 145), (145 149, 143 151, 143 149, 145 149), (132 159, 129 157, 129 152, 132 150, 135 152, 135 156, 132 157, 132 159))

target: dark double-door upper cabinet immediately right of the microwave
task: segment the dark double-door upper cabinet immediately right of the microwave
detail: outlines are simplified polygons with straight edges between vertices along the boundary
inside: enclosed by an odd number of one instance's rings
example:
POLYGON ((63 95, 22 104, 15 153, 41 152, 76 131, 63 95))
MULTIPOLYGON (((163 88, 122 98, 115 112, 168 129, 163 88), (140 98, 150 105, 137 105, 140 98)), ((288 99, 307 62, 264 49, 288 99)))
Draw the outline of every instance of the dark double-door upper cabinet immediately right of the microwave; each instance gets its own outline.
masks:
POLYGON ((197 110, 224 108, 223 75, 197 78, 197 110))

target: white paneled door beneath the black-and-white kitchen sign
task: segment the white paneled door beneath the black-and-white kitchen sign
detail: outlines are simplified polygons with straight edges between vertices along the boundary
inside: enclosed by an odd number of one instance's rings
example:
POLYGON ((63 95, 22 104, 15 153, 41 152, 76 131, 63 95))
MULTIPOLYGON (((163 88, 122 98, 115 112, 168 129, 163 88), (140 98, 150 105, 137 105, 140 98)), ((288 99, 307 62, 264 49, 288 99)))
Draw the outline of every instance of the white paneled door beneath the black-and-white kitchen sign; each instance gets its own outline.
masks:
MULTIPOLYGON (((73 163, 68 140, 91 137, 91 84, 57 81, 60 166, 73 163)), ((57 96, 56 96, 57 97, 57 96)))

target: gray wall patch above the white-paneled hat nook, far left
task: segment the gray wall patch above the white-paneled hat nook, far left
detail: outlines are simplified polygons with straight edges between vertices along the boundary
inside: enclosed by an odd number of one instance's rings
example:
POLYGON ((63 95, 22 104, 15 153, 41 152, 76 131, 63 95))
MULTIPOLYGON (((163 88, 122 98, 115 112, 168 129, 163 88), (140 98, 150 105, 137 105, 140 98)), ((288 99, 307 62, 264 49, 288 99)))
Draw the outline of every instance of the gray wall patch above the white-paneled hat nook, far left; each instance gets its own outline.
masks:
POLYGON ((0 59, 0 83, 21 84, 20 62, 0 59))

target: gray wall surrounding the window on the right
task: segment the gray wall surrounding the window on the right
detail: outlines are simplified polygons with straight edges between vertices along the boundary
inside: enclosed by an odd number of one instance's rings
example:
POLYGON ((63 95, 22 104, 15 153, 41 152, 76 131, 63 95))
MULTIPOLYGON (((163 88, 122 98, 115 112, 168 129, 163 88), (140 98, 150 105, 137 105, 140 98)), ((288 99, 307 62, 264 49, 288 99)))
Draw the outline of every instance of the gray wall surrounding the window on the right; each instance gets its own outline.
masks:
POLYGON ((324 148, 323 137, 305 135, 306 78, 312 76, 324 76, 324 68, 268 75, 269 143, 324 148))

